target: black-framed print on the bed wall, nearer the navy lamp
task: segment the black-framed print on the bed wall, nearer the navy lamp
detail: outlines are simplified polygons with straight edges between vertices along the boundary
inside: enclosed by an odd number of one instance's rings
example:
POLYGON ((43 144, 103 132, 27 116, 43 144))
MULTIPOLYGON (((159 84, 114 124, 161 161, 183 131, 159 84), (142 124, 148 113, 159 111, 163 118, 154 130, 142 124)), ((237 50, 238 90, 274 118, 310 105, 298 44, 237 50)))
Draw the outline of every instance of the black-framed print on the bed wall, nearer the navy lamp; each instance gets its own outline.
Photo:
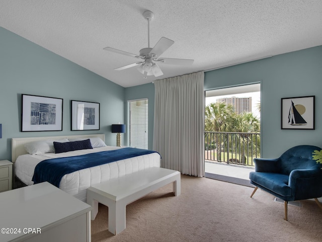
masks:
POLYGON ((99 130, 100 103, 71 100, 71 130, 99 130))

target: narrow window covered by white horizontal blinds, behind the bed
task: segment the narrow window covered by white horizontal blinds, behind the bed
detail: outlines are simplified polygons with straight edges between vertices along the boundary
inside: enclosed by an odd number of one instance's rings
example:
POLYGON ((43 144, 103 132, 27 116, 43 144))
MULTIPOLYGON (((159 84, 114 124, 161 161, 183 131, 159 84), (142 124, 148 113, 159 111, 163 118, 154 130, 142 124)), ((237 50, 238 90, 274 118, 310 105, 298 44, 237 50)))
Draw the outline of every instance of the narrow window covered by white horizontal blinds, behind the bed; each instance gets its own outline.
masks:
POLYGON ((147 98, 128 101, 129 146, 147 149, 147 98))

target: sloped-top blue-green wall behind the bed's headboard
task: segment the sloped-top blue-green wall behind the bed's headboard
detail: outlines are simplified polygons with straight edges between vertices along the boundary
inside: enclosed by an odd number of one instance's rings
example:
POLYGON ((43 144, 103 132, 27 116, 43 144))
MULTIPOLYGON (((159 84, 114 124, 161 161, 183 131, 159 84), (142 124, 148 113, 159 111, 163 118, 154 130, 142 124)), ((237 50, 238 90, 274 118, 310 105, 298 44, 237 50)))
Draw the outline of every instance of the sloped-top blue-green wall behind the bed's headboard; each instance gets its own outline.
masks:
POLYGON ((4 28, 0 28, 0 159, 11 160, 11 138, 104 133, 116 144, 111 124, 125 122, 125 88, 4 28), (63 130, 21 132, 21 94, 63 98, 63 130), (70 100, 100 103, 100 130, 70 131, 70 100))

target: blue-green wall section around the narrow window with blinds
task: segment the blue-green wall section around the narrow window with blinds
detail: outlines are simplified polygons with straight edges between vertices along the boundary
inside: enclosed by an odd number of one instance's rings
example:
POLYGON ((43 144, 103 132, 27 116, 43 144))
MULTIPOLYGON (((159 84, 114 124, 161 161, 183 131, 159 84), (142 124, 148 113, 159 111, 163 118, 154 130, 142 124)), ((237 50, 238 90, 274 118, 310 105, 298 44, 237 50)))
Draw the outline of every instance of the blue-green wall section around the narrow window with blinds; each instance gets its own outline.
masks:
MULTIPOLYGON (((125 110, 127 110, 127 101, 147 98, 148 99, 148 149, 153 145, 153 119, 154 119, 154 84, 128 87, 125 89, 125 110)), ((127 120, 127 112, 126 119, 127 120)))

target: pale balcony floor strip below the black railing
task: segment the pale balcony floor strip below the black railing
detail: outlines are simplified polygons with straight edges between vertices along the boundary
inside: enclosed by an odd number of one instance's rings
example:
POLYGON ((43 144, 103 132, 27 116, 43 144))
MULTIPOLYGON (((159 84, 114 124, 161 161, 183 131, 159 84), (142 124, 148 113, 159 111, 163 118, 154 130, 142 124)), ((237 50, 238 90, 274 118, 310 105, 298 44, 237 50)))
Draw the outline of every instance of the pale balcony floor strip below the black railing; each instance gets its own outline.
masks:
POLYGON ((205 161, 205 176, 207 178, 227 181, 238 185, 254 187, 250 184, 249 174, 253 167, 228 165, 220 162, 205 161))

